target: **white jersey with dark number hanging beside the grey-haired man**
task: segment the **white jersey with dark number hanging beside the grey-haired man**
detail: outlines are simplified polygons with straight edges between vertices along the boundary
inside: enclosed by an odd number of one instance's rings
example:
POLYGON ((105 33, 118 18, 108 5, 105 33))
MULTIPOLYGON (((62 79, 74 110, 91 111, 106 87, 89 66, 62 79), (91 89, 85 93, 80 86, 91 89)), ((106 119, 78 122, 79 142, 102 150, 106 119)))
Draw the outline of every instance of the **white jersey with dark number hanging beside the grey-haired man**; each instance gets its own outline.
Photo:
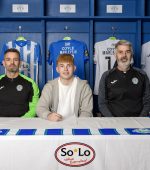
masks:
POLYGON ((95 43, 95 54, 94 54, 94 62, 96 64, 96 76, 95 76, 95 86, 94 86, 94 94, 98 95, 99 90, 99 82, 102 74, 113 68, 115 64, 115 56, 114 49, 115 44, 119 40, 107 39, 104 41, 100 41, 95 43))

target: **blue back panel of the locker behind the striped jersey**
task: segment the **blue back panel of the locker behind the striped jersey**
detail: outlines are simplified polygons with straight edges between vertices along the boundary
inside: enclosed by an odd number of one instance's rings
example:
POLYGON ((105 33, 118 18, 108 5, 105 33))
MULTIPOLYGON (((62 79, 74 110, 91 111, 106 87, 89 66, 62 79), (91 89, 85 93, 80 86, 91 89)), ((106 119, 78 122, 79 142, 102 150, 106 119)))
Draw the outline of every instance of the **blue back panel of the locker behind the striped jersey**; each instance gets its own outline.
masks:
MULTIPOLYGON (((42 24, 41 22, 36 21, 7 21, 0 22, 0 53, 2 51, 2 47, 8 41, 16 40, 18 36, 23 36, 27 40, 38 42, 41 46, 41 54, 43 56, 42 51, 42 24), (13 27, 12 27, 13 25, 13 27), (34 25, 34 26, 33 26, 34 25), (19 26, 21 26, 21 30, 19 30, 19 26)), ((0 73, 4 73, 4 67, 0 66, 0 73)), ((45 73, 43 72, 42 65, 39 66, 39 86, 40 88, 44 85, 45 73)))

